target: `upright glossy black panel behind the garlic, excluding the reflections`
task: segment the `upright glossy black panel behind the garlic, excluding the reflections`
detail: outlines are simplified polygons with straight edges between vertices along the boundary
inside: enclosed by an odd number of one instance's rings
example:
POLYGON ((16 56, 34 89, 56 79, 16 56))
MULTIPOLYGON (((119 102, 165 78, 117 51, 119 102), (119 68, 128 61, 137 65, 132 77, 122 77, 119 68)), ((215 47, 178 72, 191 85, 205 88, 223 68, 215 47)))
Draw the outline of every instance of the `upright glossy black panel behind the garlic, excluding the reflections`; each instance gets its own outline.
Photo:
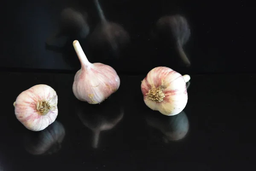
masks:
MULTIPOLYGON (((79 40, 90 62, 113 67, 119 74, 147 73, 154 67, 166 66, 186 73, 255 72, 253 63, 255 38, 255 6, 245 0, 101 0, 105 17, 121 24, 129 33, 131 44, 119 58, 108 52, 91 53, 87 40, 79 40), (164 15, 181 14, 189 22, 191 36, 184 50, 191 67, 177 62, 173 47, 152 39, 151 30, 164 15), (107 59, 106 59, 107 58, 107 59)), ((58 17, 65 7, 88 14, 90 34, 99 17, 91 0, 24 0, 1 4, 0 67, 18 69, 47 69, 75 72, 79 60, 72 41, 65 50, 46 49, 46 39, 58 29, 58 17)), ((75 39, 76 37, 74 37, 75 39)), ((60 40, 63 44, 64 40, 60 40)), ((98 49, 99 51, 101 49, 98 49)), ((20 70, 18 70, 20 71, 20 70)))

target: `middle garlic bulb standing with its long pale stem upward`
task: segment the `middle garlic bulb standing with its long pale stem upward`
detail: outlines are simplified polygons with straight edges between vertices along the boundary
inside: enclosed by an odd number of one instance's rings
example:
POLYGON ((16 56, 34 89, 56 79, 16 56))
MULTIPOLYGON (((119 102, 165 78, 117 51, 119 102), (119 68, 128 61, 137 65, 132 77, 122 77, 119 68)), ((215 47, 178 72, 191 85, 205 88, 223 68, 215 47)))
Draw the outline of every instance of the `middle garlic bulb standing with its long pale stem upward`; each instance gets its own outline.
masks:
POLYGON ((81 70, 76 72, 73 93, 77 99, 90 104, 98 104, 116 92, 120 86, 120 79, 116 71, 105 64, 90 63, 79 41, 74 41, 73 46, 81 62, 81 70))

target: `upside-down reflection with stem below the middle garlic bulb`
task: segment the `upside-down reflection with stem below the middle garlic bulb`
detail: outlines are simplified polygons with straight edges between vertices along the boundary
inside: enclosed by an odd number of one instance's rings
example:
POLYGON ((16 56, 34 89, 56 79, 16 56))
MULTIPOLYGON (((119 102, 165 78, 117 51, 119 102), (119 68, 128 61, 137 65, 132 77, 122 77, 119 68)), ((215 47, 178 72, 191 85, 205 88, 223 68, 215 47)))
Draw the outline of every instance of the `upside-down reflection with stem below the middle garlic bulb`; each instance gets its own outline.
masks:
POLYGON ((98 148, 101 131, 113 129, 123 118, 123 109, 119 107, 119 98, 111 98, 100 105, 81 104, 78 116, 84 126, 93 131, 93 148, 98 148))

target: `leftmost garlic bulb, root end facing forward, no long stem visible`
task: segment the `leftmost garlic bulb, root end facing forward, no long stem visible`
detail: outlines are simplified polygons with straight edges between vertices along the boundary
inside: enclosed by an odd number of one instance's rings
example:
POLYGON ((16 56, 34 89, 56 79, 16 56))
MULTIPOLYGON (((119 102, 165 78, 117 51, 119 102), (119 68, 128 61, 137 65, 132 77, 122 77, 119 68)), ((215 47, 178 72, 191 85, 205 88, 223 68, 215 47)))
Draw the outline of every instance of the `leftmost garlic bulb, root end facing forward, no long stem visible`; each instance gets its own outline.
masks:
POLYGON ((35 85, 20 93, 14 102, 17 119, 29 130, 47 128, 58 115, 58 96, 52 87, 35 85))

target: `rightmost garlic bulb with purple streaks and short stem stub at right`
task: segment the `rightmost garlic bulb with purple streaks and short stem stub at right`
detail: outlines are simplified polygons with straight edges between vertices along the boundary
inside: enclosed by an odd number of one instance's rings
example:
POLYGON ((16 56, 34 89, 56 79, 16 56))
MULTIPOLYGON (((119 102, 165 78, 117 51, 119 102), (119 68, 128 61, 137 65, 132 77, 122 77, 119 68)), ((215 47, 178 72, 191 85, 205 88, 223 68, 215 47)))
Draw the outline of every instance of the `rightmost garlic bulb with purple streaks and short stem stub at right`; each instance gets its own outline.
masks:
POLYGON ((189 80, 189 75, 182 76, 168 67, 152 69, 141 83, 145 104, 163 115, 180 113, 187 104, 186 82, 189 80))

